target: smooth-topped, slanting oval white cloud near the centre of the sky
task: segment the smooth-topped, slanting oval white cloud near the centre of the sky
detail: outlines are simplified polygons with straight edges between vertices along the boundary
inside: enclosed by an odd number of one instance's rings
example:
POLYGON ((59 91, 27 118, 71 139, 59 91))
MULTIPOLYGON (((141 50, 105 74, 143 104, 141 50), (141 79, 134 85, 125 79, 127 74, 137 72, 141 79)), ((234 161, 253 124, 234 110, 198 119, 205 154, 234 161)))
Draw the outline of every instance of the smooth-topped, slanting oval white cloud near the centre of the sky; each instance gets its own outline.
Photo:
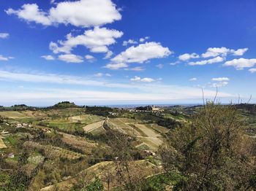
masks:
POLYGON ((152 58, 164 58, 172 52, 167 47, 162 47, 157 42, 146 42, 139 44, 137 47, 132 46, 121 52, 111 61, 114 63, 144 63, 152 58))

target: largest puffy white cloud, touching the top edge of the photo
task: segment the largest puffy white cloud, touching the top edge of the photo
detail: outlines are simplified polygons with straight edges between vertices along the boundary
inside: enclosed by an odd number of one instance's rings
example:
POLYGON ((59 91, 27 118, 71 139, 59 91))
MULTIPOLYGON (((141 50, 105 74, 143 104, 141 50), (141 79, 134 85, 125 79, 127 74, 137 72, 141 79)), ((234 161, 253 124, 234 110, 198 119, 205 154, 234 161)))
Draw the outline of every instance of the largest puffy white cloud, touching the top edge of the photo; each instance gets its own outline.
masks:
POLYGON ((23 4, 21 9, 7 9, 5 12, 43 26, 63 23, 64 25, 91 27, 121 20, 116 4, 113 4, 111 0, 63 1, 56 3, 56 7, 50 8, 48 12, 39 9, 37 4, 23 4))

